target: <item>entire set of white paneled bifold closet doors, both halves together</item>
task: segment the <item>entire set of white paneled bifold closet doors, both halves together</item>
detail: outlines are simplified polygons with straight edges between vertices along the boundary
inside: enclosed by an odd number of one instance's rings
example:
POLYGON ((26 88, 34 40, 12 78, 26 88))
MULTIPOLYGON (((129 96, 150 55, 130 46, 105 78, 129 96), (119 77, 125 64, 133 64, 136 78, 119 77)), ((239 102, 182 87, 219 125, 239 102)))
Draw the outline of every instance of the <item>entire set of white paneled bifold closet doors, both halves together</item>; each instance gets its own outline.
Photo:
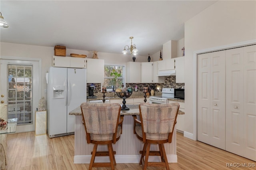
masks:
POLYGON ((256 45, 198 55, 197 96, 198 140, 256 161, 256 45))

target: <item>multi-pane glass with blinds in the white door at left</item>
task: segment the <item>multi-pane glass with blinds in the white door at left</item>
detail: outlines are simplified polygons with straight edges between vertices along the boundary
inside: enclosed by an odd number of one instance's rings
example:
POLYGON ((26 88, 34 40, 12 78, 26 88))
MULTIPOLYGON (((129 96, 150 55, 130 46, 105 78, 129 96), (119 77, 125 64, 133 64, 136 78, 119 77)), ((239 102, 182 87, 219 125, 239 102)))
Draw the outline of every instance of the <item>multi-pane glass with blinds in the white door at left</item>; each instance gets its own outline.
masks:
POLYGON ((18 118, 17 125, 33 123, 32 65, 8 65, 8 119, 18 118))

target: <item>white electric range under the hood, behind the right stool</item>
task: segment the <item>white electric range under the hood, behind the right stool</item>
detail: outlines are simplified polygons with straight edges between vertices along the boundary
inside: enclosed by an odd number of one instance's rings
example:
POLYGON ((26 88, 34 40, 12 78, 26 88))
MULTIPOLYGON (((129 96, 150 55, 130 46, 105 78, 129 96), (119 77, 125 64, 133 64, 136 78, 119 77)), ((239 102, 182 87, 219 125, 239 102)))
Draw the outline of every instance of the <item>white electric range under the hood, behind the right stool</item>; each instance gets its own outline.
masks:
POLYGON ((168 99, 174 98, 174 89, 173 88, 163 88, 162 96, 150 96, 149 103, 163 104, 168 103, 168 99))

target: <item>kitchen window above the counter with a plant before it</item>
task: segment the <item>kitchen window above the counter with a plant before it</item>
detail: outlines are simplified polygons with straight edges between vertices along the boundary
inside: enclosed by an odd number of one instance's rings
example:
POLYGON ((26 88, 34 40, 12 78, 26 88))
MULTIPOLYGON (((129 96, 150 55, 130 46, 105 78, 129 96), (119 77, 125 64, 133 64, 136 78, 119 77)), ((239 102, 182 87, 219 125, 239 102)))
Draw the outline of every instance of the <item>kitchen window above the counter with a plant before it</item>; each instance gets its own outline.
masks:
POLYGON ((107 88, 107 91, 115 90, 115 79, 113 75, 111 76, 112 72, 120 73, 120 76, 116 78, 116 88, 122 88, 122 83, 124 83, 124 66, 104 65, 104 86, 107 88))

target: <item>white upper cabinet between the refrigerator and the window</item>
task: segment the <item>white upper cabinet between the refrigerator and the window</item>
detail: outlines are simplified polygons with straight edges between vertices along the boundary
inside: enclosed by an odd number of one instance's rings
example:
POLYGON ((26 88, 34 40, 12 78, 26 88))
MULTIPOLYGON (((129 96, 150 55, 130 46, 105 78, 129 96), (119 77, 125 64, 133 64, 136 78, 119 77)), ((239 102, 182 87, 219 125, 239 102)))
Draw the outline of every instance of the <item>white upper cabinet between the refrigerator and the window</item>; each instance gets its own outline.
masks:
POLYGON ((87 83, 104 82, 104 59, 86 59, 87 83))

